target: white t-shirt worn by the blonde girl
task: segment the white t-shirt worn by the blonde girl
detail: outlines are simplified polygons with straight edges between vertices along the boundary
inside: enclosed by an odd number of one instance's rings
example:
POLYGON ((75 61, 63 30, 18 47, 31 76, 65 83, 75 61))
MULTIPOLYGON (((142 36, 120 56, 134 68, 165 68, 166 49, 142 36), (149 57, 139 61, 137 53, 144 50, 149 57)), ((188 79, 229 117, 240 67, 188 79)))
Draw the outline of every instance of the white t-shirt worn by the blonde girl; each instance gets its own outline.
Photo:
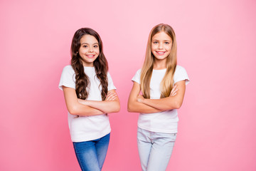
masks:
MULTIPOLYGON (((141 69, 137 71, 132 81, 140 84, 141 69)), ((150 98, 160 99, 161 90, 160 83, 164 78, 166 69, 153 70, 150 81, 150 98)), ((174 84, 178 81, 186 81, 189 83, 188 74, 182 66, 176 66, 174 73, 174 84)), ((159 113, 140 113, 138 127, 144 130, 149 130, 157 133, 177 133, 178 132, 178 112, 174 110, 166 110, 159 113)))

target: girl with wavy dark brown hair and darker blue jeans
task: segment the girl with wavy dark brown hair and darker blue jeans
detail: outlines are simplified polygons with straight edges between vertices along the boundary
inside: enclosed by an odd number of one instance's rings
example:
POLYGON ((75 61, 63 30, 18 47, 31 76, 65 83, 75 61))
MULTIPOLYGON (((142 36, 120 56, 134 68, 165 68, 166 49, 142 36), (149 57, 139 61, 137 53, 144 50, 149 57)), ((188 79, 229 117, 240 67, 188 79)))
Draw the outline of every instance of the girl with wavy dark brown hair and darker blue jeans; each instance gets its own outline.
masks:
POLYGON ((71 57, 59 84, 68 108, 71 140, 81 170, 100 171, 110 142, 107 113, 120 108, 100 35, 92 28, 76 31, 71 57))

